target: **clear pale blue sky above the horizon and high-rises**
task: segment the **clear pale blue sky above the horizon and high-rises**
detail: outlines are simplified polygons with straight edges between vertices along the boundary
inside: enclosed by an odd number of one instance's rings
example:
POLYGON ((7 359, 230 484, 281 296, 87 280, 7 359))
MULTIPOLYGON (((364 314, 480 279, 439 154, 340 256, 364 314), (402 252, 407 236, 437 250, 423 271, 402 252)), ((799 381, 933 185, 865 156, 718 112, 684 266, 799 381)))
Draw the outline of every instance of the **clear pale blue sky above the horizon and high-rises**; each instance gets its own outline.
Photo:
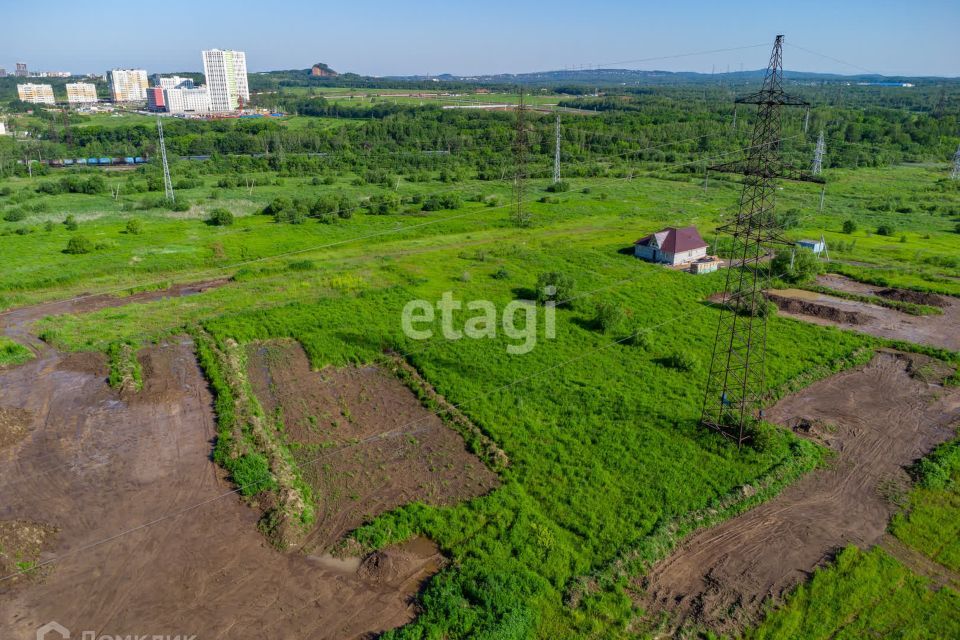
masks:
MULTIPOLYGON (((542 71, 772 42, 802 71, 960 76, 960 2, 0 2, 0 67, 200 71, 200 50, 247 52, 250 71, 326 62, 370 75, 542 71), (49 19, 48 19, 49 18, 49 19), (855 66, 851 66, 855 65, 855 66)), ((762 47, 616 66, 765 66, 762 47)))

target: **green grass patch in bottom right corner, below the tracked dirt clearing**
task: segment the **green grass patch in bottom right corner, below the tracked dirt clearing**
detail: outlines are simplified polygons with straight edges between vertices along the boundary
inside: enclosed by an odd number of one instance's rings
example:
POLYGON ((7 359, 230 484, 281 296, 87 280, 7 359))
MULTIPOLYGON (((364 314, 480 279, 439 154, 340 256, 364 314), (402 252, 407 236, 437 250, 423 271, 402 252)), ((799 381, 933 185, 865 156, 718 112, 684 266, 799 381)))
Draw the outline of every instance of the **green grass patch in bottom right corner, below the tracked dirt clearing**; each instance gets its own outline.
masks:
POLYGON ((960 594, 932 591, 880 549, 845 549, 834 565, 817 571, 757 629, 750 640, 859 640, 956 638, 960 594))

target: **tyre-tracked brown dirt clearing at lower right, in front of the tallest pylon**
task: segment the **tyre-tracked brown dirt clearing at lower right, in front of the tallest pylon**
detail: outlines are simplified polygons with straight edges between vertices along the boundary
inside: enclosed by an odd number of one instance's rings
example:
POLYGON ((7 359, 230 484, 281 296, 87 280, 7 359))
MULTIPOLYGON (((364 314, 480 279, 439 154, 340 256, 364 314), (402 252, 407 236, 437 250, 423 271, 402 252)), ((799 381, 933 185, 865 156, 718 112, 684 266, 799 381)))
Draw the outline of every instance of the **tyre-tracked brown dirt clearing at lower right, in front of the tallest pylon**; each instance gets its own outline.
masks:
POLYGON ((953 437, 960 420, 960 389, 910 375, 927 360, 881 352, 770 409, 769 420, 816 437, 834 459, 655 566, 642 585, 651 621, 732 632, 839 548, 879 543, 894 510, 885 495, 906 486, 904 467, 953 437))

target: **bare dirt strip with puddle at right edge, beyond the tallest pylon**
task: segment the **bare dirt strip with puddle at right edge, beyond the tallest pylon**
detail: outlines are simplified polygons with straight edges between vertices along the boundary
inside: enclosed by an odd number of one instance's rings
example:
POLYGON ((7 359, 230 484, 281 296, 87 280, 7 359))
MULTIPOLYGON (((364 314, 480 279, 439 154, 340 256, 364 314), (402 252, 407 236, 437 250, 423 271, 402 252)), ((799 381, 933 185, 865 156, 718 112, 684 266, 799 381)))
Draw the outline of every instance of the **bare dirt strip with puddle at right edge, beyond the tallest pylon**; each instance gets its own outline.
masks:
MULTIPOLYGON (((821 276, 817 284, 861 295, 881 295, 881 292, 891 291, 864 285, 841 276, 821 276)), ((846 300, 802 289, 777 289, 768 295, 780 308, 780 314, 788 318, 851 329, 890 340, 904 340, 960 351, 960 299, 958 298, 936 296, 938 299, 936 302, 940 303, 936 306, 941 306, 942 314, 913 316, 875 304, 846 300)), ((885 297, 890 299, 911 297, 908 294, 896 295, 900 297, 893 297, 894 294, 885 297)), ((920 299, 905 301, 915 302, 920 299)), ((935 302, 931 298, 922 299, 925 302, 921 304, 935 302)))

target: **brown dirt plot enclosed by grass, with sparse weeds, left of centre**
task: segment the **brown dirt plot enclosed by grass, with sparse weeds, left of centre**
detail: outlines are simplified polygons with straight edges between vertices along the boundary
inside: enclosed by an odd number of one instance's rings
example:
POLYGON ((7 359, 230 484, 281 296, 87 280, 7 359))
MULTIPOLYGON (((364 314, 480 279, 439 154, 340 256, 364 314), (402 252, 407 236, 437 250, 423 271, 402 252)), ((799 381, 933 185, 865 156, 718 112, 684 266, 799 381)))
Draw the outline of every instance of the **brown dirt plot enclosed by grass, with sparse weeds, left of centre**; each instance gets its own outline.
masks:
POLYGON ((299 343, 270 342, 249 346, 248 372, 264 411, 282 416, 299 445, 295 455, 317 491, 308 550, 331 549, 401 505, 456 504, 499 484, 459 433, 381 367, 312 371, 299 343))

